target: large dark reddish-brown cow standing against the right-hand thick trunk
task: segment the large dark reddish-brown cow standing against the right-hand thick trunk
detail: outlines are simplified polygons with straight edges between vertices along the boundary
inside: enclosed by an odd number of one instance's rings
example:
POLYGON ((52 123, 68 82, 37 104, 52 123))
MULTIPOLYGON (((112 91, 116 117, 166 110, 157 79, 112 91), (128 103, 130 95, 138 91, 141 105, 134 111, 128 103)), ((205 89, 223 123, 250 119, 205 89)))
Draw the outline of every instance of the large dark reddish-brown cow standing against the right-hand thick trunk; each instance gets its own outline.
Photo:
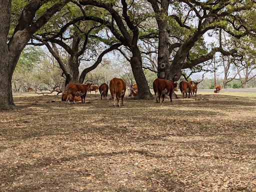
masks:
POLYGON ((175 90, 177 91, 177 83, 171 82, 169 80, 156 78, 153 81, 153 89, 154 94, 156 95, 155 101, 160 102, 160 97, 162 95, 162 102, 164 102, 164 94, 168 95, 170 97, 170 102, 172 102, 171 94, 175 90), (158 99, 157 99, 158 97, 158 99))

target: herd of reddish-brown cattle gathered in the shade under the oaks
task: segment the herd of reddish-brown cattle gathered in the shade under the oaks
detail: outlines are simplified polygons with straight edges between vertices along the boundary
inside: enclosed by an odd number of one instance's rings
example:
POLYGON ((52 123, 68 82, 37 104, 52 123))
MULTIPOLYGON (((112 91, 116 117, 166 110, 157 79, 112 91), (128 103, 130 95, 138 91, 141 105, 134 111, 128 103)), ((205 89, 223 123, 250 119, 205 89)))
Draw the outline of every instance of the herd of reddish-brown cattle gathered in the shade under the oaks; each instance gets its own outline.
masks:
MULTIPOLYGON (((196 96, 197 92, 197 82, 194 81, 180 81, 179 82, 179 89, 182 93, 182 98, 187 97, 190 98, 190 94, 196 96), (185 95, 184 95, 185 94, 185 95)), ((169 80, 156 78, 153 81, 153 90, 154 94, 156 95, 156 102, 160 102, 160 97, 162 97, 162 102, 164 102, 164 96, 167 95, 171 99, 171 94, 174 91, 178 91, 177 87, 178 84, 176 82, 171 82, 169 80)), ((123 98, 126 91, 126 85, 124 81, 120 78, 112 78, 109 82, 109 87, 106 83, 101 84, 100 86, 92 86, 92 83, 86 84, 73 84, 69 83, 67 85, 67 92, 62 94, 61 100, 67 100, 68 104, 69 101, 82 101, 85 102, 85 96, 87 92, 99 91, 101 95, 101 99, 107 99, 107 92, 108 89, 110 90, 111 97, 113 99, 113 106, 115 106, 115 98, 117 100, 117 105, 120 106, 119 100, 121 99, 121 105, 123 105, 123 98)), ((128 96, 136 96, 138 94, 138 87, 137 84, 127 85, 128 96)), ((221 86, 216 86, 216 90, 221 92, 221 86)))

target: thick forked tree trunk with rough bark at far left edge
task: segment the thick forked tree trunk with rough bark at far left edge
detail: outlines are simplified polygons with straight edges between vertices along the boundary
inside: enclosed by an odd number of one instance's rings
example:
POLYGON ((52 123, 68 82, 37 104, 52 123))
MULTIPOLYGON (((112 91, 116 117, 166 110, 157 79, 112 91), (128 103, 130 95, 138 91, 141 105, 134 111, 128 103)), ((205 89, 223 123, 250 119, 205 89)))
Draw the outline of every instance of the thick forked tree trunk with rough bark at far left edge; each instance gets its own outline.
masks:
POLYGON ((36 21, 35 12, 40 7, 40 0, 31 0, 23 8, 18 24, 7 44, 10 27, 11 0, 0 0, 0 110, 12 109, 15 105, 12 97, 11 78, 19 55, 32 34, 50 17, 59 11, 69 0, 63 0, 47 9, 36 21))

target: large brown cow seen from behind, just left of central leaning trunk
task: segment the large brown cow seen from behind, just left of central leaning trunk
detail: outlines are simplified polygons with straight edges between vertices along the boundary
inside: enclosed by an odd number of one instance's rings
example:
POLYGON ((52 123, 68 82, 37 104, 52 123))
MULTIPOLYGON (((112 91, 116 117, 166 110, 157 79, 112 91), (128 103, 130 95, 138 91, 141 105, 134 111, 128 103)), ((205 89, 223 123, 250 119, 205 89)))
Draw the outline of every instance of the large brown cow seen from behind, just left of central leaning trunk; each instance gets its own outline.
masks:
POLYGON ((122 99, 121 105, 123 105, 123 98, 126 90, 126 85, 124 81, 120 78, 112 78, 109 82, 109 90, 113 99, 113 106, 115 106, 114 96, 116 97, 116 100, 117 100, 117 106, 120 106, 119 104, 120 97, 122 99))

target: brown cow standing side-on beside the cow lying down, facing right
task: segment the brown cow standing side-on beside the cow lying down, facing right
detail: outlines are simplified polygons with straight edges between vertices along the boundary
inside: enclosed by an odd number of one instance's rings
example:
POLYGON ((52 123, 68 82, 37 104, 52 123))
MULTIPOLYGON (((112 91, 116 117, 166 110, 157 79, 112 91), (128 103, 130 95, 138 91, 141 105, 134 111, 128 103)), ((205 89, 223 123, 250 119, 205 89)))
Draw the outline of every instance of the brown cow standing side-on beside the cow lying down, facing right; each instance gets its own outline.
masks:
MULTIPOLYGON (((83 103, 85 103, 85 96, 86 96, 88 87, 90 87, 91 84, 92 83, 87 83, 87 84, 69 83, 67 85, 67 98, 66 98, 66 100, 68 100, 68 104, 69 104, 71 95, 73 98, 74 98, 74 96, 80 96, 81 100, 83 100, 83 103)), ((75 103, 75 100, 73 100, 73 102, 75 103)))

